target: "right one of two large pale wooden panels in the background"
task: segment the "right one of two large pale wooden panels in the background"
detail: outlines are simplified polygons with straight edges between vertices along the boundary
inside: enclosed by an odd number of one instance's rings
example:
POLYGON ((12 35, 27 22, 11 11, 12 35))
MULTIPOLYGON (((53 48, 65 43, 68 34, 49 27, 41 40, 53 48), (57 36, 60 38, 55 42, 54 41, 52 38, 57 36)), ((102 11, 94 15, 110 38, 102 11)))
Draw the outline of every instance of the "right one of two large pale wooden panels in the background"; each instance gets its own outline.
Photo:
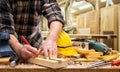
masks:
MULTIPOLYGON (((118 5, 109 6, 101 9, 100 33, 113 31, 118 35, 118 5)), ((118 39, 114 39, 113 49, 118 50, 118 39)))

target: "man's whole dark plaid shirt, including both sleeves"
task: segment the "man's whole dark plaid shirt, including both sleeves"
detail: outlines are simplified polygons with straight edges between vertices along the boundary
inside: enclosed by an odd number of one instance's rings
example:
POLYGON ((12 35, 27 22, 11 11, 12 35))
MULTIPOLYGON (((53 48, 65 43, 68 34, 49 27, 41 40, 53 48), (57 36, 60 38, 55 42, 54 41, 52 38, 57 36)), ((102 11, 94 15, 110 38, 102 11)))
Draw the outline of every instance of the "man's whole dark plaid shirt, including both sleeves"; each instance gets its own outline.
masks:
POLYGON ((54 20, 64 24, 56 0, 0 0, 0 31, 27 36, 29 42, 39 47, 41 16, 48 19, 48 26, 54 20))

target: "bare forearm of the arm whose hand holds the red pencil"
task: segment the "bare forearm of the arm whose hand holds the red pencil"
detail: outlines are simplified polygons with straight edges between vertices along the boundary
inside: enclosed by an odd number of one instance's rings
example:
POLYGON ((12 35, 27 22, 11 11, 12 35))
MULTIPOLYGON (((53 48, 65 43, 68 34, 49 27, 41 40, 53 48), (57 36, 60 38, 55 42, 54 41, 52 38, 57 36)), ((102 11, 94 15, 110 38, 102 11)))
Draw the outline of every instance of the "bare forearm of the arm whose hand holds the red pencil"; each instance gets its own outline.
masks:
POLYGON ((13 50, 19 55, 19 50, 20 50, 20 48, 23 47, 23 45, 21 43, 19 43, 17 38, 12 34, 10 34, 9 43, 10 43, 11 47, 13 48, 13 50))

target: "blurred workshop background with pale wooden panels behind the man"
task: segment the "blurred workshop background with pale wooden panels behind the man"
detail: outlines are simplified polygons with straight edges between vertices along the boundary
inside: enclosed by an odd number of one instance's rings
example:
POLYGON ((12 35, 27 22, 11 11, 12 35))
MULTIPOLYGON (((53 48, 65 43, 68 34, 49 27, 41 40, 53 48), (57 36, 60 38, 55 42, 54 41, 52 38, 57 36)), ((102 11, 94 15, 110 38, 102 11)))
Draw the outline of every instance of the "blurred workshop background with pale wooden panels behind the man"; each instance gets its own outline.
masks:
MULTIPOLYGON (((120 51, 120 0, 57 0, 66 21, 64 29, 79 36, 97 35, 97 40, 120 51), (108 39, 102 38, 108 35, 108 39), (111 38, 109 38, 109 35, 111 38)), ((48 33, 43 18, 42 33, 48 33)), ((92 38, 92 37, 91 37, 92 38)))

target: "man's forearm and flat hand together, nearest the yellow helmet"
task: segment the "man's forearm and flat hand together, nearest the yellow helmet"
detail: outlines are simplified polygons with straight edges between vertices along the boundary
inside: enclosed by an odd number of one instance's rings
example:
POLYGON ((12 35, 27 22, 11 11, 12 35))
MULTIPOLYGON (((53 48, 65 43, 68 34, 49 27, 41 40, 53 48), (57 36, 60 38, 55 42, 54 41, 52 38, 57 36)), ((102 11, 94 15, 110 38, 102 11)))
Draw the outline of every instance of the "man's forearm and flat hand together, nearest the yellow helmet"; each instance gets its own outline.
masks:
POLYGON ((57 57, 57 40, 62 30, 62 23, 53 21, 50 24, 49 34, 45 42, 40 46, 39 53, 44 52, 46 58, 57 57))

